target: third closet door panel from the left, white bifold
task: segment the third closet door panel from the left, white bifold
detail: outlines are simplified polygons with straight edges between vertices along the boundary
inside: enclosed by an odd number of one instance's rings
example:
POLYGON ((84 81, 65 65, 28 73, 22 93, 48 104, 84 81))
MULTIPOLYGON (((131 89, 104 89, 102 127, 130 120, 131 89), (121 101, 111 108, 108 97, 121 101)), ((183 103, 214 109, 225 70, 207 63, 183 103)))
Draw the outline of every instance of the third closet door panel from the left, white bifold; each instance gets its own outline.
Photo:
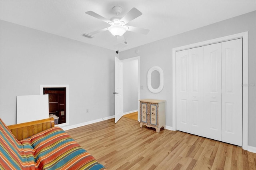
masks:
POLYGON ((204 46, 204 136, 221 140, 221 43, 204 46))

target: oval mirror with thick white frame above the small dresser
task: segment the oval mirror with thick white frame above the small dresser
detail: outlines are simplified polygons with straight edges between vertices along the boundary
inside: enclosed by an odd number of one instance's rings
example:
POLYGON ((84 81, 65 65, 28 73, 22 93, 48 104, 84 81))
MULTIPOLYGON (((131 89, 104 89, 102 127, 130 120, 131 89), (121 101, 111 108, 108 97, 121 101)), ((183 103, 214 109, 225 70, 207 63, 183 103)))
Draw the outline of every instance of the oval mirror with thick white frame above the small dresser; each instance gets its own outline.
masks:
POLYGON ((148 70, 148 89, 152 93, 159 93, 164 87, 164 71, 154 66, 148 70))

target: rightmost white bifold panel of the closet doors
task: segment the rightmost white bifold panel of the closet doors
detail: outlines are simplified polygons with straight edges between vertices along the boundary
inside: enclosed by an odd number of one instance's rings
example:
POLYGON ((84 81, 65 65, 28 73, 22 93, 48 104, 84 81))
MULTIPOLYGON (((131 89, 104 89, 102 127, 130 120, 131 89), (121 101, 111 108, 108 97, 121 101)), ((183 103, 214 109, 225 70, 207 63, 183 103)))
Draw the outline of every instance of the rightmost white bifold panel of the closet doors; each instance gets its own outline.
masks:
POLYGON ((222 43, 222 141, 242 146, 242 39, 222 43))

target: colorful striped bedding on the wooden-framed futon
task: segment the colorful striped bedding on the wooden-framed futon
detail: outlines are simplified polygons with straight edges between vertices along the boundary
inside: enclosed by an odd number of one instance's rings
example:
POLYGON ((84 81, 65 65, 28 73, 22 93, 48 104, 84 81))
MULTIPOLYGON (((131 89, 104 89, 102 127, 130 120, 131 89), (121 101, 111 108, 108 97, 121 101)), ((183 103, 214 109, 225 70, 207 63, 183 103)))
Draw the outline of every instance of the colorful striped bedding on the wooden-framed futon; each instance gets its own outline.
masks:
POLYGON ((105 169, 59 127, 18 141, 0 119, 0 133, 0 169, 105 169))

